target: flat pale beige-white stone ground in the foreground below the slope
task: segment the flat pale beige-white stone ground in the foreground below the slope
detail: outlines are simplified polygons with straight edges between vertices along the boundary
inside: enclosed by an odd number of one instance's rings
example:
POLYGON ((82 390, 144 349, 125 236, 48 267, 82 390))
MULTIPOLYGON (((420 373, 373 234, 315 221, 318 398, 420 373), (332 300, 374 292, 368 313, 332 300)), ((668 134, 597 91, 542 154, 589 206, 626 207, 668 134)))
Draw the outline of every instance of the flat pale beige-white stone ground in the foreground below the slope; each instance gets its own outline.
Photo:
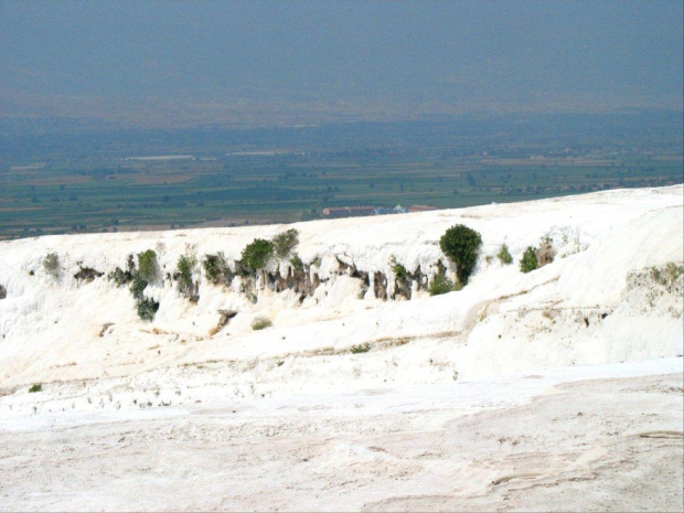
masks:
POLYGON ((45 416, 0 434, 0 509, 681 511, 681 370, 45 416))

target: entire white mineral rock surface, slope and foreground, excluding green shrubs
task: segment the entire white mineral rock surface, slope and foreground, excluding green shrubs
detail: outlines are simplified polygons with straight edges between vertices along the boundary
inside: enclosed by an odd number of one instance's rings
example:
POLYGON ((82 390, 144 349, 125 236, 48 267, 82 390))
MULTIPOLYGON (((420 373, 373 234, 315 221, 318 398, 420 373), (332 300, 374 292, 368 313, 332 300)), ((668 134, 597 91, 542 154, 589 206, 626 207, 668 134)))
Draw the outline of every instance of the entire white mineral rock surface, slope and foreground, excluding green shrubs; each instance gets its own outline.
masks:
POLYGON ((0 510, 681 511, 683 192, 2 242, 0 510), (430 297, 455 224, 478 266, 430 297), (288 259, 252 289, 204 275, 287 228, 310 295, 275 289, 288 259), (546 238, 554 261, 522 274, 546 238), (151 322, 107 279, 147 249, 151 322))

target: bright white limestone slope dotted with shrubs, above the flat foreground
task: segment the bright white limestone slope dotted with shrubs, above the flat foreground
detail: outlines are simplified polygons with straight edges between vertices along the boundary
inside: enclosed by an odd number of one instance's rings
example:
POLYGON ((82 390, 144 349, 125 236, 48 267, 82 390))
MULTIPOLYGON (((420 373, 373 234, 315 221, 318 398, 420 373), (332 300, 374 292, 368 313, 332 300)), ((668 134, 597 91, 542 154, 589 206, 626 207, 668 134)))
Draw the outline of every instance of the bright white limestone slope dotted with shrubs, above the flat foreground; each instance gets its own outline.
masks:
POLYGON ((386 351, 392 361, 406 344, 438 354, 406 365, 406 380, 421 375, 428 360, 463 377, 676 356, 682 192, 609 191, 288 227, 3 242, 0 383, 350 348, 386 351), (436 277, 456 284, 455 263, 439 249, 455 224, 481 234, 478 264, 466 287, 431 297, 436 277), (248 271, 243 249, 288 228, 298 234, 290 253, 248 271), (510 265, 496 258, 503 244, 510 265), (523 274, 519 260, 528 246, 542 267, 523 274), (153 253, 158 269, 142 280, 138 255, 145 252, 153 253), (257 318, 271 325, 255 331, 257 318), (151 359, 148 348, 157 346, 151 359))

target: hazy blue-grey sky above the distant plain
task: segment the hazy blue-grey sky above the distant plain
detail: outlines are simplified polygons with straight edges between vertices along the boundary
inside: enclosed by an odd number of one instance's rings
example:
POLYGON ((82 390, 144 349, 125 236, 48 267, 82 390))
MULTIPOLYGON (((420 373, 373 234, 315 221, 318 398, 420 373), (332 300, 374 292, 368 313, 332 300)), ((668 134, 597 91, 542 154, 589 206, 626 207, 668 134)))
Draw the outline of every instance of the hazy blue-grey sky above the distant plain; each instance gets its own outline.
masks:
POLYGON ((682 109, 683 17, 681 0, 0 0, 0 113, 682 109))

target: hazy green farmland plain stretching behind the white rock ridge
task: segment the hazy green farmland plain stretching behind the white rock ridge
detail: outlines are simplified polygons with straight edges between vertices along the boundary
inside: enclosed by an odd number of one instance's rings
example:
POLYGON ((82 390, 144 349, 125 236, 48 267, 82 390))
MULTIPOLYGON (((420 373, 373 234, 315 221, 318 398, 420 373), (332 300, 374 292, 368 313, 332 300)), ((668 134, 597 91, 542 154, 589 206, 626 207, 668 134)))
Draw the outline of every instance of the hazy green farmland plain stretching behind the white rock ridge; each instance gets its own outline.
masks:
POLYGON ((682 183, 676 116, 592 122, 6 133, 0 238, 293 222, 334 206, 452 209, 682 183))

